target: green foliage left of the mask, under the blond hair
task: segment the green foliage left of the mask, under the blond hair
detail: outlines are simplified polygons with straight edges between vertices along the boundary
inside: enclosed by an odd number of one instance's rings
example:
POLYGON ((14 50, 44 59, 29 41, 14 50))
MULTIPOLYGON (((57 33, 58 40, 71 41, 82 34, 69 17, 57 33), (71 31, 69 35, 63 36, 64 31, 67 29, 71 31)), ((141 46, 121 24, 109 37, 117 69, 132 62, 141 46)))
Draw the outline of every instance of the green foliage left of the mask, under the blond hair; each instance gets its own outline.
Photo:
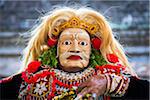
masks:
POLYGON ((56 46, 49 48, 39 57, 39 61, 42 62, 42 65, 48 65, 50 67, 57 67, 58 61, 56 59, 56 46))

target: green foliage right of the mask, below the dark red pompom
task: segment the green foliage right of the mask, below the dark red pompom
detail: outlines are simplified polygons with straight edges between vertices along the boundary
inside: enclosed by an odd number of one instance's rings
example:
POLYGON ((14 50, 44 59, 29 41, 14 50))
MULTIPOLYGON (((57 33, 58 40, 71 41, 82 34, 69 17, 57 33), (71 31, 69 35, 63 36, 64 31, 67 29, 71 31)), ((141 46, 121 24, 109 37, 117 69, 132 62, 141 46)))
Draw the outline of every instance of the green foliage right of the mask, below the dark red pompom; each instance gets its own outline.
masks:
POLYGON ((90 57, 90 66, 95 67, 97 65, 102 66, 105 64, 107 64, 107 62, 103 58, 102 54, 98 50, 92 48, 92 54, 90 57))

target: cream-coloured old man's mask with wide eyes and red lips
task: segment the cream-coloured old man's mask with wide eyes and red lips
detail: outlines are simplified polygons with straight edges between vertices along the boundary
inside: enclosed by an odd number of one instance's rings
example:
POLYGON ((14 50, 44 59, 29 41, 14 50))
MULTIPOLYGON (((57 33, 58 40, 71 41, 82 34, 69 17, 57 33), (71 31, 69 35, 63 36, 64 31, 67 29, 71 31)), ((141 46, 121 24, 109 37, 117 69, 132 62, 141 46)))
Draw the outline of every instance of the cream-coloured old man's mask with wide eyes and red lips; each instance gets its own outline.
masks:
POLYGON ((67 28, 59 37, 57 49, 59 63, 64 71, 80 71, 89 63, 90 36, 84 29, 67 28))

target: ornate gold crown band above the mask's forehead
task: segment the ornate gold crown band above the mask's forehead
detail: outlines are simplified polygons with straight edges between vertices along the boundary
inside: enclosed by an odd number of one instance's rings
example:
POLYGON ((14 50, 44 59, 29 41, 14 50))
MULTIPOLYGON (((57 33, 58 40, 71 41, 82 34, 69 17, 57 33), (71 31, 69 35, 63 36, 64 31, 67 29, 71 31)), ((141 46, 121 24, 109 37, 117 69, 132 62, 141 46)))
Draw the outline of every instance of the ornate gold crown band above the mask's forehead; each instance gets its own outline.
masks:
POLYGON ((97 24, 90 24, 85 21, 80 20, 77 17, 71 18, 69 21, 60 24, 59 26, 54 27, 52 34, 58 36, 66 28, 81 28, 86 30, 90 34, 95 34, 99 31, 97 24))

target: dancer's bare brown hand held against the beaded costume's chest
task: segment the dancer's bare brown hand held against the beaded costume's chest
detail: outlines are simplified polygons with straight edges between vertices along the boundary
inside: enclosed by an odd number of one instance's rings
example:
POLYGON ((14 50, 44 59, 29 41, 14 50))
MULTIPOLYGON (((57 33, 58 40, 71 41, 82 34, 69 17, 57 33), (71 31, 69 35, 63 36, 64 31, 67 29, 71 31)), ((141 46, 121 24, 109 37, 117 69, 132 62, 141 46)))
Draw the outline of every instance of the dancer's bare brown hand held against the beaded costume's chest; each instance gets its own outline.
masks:
POLYGON ((103 95, 106 91, 107 79, 104 75, 95 75, 86 82, 80 84, 79 88, 83 90, 77 95, 80 99, 86 94, 92 94, 93 99, 97 99, 98 96, 103 95))

